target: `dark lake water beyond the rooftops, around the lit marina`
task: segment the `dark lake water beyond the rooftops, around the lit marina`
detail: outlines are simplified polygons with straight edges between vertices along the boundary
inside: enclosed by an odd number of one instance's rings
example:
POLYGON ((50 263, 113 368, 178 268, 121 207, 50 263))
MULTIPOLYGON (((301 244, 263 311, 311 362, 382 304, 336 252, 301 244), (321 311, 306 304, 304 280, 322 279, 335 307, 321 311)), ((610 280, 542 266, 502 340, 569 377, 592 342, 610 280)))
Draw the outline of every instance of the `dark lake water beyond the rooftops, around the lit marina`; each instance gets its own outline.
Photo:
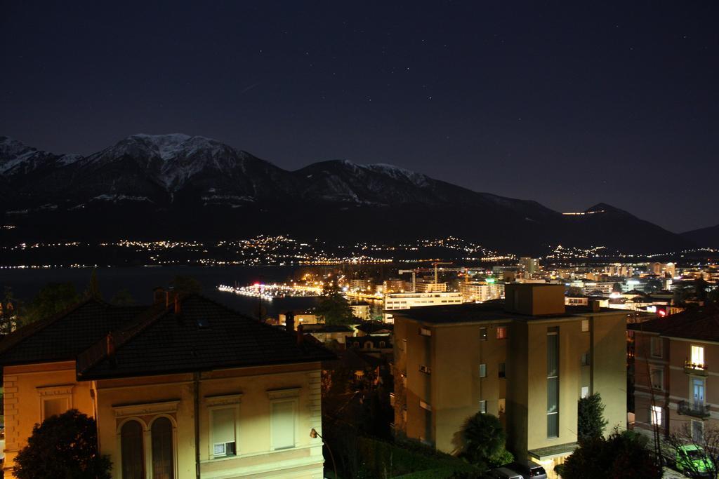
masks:
MULTIPOLYGON (((256 315, 258 300, 253 297, 219 292, 219 284, 240 285, 262 282, 285 282, 293 276, 296 267, 286 266, 158 266, 128 268, 98 268, 97 278, 105 300, 114 297, 121 289, 127 289, 138 304, 152 302, 152 289, 168 287, 170 281, 180 274, 192 276, 203 287, 203 294, 215 299, 234 310, 247 315, 256 315)), ((90 281, 92 270, 89 268, 58 269, 1 269, 0 298, 4 297, 5 287, 12 287, 15 297, 29 301, 50 282, 73 282, 78 292, 83 292, 90 281)), ((267 315, 277 317, 280 312, 301 310, 316 304, 314 297, 275 298, 262 300, 267 315)))

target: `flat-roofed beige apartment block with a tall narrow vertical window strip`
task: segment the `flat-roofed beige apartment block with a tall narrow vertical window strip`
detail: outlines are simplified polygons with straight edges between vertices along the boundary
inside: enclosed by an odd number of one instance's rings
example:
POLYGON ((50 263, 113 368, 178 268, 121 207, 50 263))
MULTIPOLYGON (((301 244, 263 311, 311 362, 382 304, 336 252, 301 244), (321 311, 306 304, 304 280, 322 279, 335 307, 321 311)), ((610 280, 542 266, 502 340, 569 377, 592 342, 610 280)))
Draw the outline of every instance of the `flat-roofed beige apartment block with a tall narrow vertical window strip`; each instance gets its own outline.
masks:
POLYGON ((505 303, 395 311, 395 433, 459 452, 477 411, 549 472, 577 441, 577 401, 600 393, 626 427, 626 313, 566 307, 564 287, 507 284, 505 303))

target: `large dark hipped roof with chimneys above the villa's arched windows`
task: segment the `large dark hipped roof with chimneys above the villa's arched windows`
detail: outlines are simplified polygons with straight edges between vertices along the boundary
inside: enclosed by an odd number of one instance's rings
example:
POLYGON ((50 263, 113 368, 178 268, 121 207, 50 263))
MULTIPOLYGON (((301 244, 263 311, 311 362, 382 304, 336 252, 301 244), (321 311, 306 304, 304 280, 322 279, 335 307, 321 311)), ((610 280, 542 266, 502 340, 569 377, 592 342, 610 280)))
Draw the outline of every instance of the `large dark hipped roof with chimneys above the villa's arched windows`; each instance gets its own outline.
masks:
POLYGON ((179 315, 173 310, 149 312, 131 327, 114 332, 113 338, 113 360, 103 338, 78 356, 78 377, 151 376, 335 358, 315 343, 298 344, 294 333, 196 294, 182 299, 179 315))

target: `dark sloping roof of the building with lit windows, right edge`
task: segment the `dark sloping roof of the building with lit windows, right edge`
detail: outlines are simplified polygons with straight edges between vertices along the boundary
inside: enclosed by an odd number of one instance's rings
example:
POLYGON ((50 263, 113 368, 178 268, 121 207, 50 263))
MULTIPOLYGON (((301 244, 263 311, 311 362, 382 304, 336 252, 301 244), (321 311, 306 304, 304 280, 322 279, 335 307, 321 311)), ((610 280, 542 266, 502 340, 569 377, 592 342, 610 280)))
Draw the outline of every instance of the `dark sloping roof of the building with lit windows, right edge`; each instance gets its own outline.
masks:
POLYGON ((628 325, 631 330, 656 332, 672 338, 719 342, 719 307, 714 303, 692 307, 675 315, 628 325))

